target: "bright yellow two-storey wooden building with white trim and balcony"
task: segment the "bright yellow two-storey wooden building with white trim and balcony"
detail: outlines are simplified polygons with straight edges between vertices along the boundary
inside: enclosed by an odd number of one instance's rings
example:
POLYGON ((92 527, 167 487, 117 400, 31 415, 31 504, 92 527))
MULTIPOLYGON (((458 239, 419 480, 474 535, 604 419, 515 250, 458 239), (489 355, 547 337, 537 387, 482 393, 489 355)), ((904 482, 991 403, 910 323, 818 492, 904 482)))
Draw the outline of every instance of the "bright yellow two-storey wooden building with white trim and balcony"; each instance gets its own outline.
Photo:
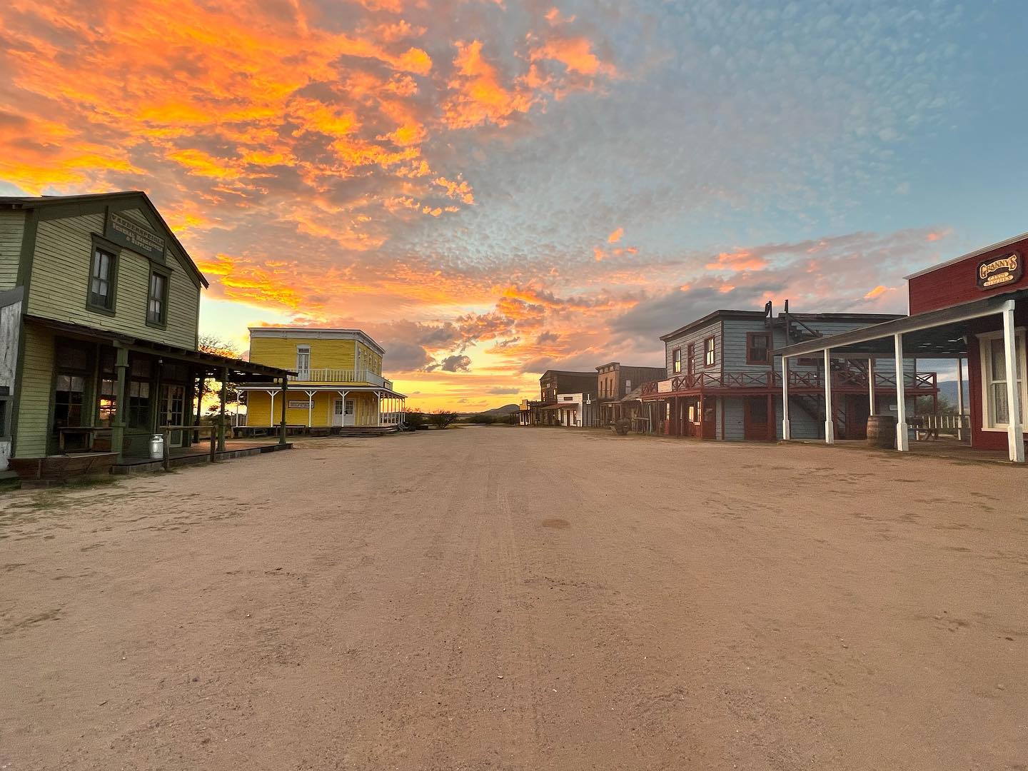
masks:
POLYGON ((289 389, 244 384, 247 425, 398 430, 406 397, 382 377, 382 347, 359 329, 251 327, 250 361, 295 371, 289 389))

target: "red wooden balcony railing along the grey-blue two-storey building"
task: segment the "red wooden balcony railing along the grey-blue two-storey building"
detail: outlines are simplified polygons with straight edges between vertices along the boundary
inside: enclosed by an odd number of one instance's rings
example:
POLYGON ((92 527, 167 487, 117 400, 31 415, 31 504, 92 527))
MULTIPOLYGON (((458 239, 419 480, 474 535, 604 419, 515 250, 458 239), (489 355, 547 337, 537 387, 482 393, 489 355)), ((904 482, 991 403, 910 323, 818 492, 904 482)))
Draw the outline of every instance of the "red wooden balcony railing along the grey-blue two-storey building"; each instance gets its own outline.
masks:
MULTIPOLYGON (((870 386, 867 372, 842 370, 832 373, 832 389, 839 393, 866 392, 870 386)), ((875 372, 876 391, 895 391, 895 373, 875 372)), ((781 389, 781 373, 777 370, 765 370, 763 372, 696 372, 691 375, 675 375, 666 380, 642 383, 642 396, 655 397, 659 394, 676 394, 683 391, 745 389, 781 389)), ((820 372, 790 371, 788 389, 794 393, 804 390, 823 391, 824 378, 820 372)), ((939 390, 935 373, 905 373, 904 389, 908 393, 931 394, 939 390)))

